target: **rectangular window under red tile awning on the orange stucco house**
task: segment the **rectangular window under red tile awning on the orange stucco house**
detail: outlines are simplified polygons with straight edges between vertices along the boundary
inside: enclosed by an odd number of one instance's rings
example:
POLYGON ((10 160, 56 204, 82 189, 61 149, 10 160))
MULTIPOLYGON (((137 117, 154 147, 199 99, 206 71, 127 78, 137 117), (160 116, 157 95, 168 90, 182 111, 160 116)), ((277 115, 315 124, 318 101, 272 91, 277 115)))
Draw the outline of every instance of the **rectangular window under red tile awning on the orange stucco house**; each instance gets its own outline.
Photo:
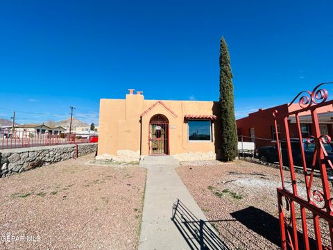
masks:
POLYGON ((189 141, 212 142, 210 120, 189 120, 189 141))

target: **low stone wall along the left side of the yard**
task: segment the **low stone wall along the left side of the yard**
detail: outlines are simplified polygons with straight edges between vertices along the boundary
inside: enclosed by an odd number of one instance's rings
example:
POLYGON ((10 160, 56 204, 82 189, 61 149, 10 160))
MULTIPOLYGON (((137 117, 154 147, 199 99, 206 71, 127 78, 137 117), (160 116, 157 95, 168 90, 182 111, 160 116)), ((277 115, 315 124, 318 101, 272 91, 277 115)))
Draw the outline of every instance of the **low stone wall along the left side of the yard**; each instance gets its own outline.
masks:
MULTIPOLYGON (((78 144, 78 156, 94 153, 97 143, 78 144)), ((75 145, 0 150, 0 178, 74 158, 75 145)))

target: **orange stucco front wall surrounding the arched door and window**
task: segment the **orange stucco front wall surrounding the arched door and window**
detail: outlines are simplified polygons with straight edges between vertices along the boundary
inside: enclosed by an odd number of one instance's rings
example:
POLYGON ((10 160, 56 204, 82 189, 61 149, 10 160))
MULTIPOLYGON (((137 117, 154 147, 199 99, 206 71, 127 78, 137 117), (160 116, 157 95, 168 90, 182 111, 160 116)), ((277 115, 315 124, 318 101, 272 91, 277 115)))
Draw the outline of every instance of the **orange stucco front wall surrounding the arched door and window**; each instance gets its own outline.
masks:
POLYGON ((201 153, 203 158, 215 158, 219 151, 219 119, 212 121, 212 142, 189 142, 185 115, 216 115, 219 104, 214 101, 162 101, 142 116, 157 100, 144 100, 142 94, 127 94, 126 99, 101 99, 99 115, 99 156, 117 156, 121 151, 132 151, 138 156, 149 153, 148 126, 153 115, 169 119, 169 149, 171 155, 201 153), (172 110, 172 112, 170 111, 172 110), (141 140, 141 143, 140 143, 141 140), (141 146, 141 147, 140 147, 141 146), (203 154, 206 153, 207 155, 203 154))

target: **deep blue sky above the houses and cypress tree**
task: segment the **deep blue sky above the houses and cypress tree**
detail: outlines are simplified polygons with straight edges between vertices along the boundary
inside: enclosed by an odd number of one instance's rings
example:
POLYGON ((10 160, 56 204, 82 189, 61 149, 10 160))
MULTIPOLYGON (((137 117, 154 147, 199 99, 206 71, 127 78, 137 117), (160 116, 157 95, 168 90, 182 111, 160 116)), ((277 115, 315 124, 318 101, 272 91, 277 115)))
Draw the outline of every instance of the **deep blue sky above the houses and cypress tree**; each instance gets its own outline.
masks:
MULTIPOLYGON (((333 80, 332 1, 1 1, 0 118, 75 116, 99 99, 218 100, 230 49, 236 116, 333 80)), ((115 107, 116 108, 116 107, 115 107)), ((110 110, 112 112, 112 110, 110 110)))

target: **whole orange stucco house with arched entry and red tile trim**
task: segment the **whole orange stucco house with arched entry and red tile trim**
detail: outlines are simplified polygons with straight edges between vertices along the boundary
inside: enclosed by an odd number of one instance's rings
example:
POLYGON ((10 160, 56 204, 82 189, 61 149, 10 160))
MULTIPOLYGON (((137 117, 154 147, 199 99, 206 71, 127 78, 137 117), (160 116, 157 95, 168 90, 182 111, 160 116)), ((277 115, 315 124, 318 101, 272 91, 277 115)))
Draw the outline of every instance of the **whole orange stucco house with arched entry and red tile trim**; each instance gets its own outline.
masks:
POLYGON ((220 120, 216 101, 101 99, 99 157, 173 155, 179 160, 215 159, 220 120))

